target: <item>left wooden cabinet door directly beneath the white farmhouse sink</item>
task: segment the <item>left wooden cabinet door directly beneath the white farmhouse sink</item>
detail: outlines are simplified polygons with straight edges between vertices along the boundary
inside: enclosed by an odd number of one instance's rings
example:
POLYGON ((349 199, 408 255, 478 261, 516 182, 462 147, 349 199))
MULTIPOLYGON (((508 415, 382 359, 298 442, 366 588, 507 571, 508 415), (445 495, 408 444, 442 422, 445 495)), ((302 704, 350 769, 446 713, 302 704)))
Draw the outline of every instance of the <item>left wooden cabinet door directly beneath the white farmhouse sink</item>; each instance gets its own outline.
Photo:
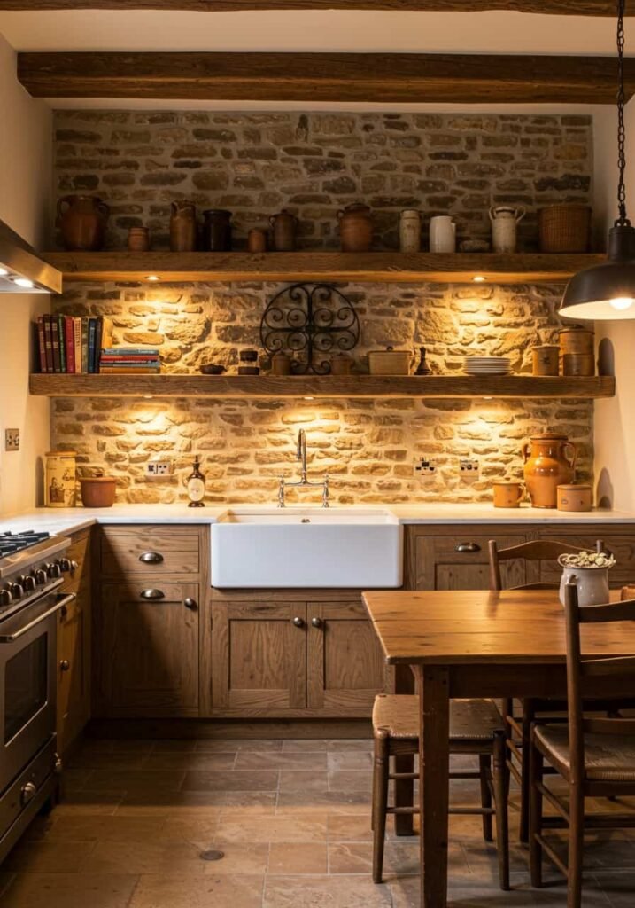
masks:
POLYGON ((307 705, 306 617, 304 602, 214 603, 214 709, 304 708, 307 705), (299 627, 294 619, 301 623, 299 627))

